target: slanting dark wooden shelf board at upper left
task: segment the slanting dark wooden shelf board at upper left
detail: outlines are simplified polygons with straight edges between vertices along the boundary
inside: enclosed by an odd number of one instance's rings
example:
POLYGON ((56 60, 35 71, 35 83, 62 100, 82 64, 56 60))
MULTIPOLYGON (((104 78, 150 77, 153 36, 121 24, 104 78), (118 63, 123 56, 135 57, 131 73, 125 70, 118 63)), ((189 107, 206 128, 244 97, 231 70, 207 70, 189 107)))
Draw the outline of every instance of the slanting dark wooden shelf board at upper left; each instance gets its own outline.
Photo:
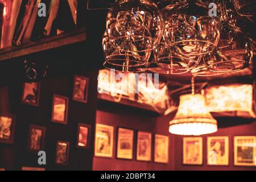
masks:
POLYGON ((67 46, 69 44, 84 42, 86 40, 85 29, 74 32, 64 33, 39 40, 29 42, 22 46, 0 49, 0 61, 13 59, 15 57, 29 55, 31 53, 46 51, 57 47, 67 46))

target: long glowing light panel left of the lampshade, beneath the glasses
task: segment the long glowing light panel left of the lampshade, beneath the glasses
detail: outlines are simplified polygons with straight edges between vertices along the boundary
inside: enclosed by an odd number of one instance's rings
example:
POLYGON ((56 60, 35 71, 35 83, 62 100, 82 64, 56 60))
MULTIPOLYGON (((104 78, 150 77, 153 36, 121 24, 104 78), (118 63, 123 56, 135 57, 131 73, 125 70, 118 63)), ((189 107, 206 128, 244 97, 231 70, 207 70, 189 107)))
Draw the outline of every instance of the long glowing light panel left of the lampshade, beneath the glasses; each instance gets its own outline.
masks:
POLYGON ((126 99, 151 105, 155 110, 166 110, 169 103, 168 87, 145 73, 115 73, 108 69, 98 74, 98 93, 109 94, 116 102, 126 99), (135 97, 137 94, 138 97, 135 97))

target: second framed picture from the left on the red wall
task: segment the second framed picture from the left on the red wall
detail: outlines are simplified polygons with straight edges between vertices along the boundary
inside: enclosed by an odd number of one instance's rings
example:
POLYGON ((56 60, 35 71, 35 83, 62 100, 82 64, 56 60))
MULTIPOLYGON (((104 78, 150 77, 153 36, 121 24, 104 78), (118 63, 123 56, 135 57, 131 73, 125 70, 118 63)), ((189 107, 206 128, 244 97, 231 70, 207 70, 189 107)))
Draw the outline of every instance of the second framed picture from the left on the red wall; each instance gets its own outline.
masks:
POLYGON ((133 159, 134 131, 118 127, 117 131, 117 158, 133 159))

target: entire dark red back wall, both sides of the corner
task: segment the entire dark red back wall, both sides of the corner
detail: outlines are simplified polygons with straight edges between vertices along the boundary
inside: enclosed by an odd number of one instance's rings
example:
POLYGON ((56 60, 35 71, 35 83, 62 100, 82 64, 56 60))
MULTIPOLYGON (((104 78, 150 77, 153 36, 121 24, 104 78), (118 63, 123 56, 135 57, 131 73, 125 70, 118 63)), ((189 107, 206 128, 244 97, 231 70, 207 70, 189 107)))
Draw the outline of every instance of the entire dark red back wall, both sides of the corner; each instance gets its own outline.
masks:
MULTIPOLYGON (((169 121, 175 113, 167 116, 152 116, 143 113, 120 113, 117 110, 97 111, 96 122, 114 126, 114 136, 117 132, 117 126, 129 127, 135 130, 144 130, 156 134, 170 136, 169 163, 157 164, 154 162, 144 163, 133 160, 120 160, 115 158, 117 143, 114 137, 114 157, 93 159, 94 170, 256 170, 256 167, 238 167, 234 166, 233 155, 233 137, 238 135, 256 135, 256 121, 241 118, 222 118, 218 119, 217 133, 210 136, 228 136, 229 137, 229 166, 208 166, 207 165, 207 136, 203 136, 203 165, 193 166, 182 164, 183 158, 183 140, 181 136, 168 133, 169 121), (118 113, 118 114, 115 114, 118 113), (224 127, 225 126, 225 127, 224 127)), ((135 157, 135 153, 134 153, 135 157)))

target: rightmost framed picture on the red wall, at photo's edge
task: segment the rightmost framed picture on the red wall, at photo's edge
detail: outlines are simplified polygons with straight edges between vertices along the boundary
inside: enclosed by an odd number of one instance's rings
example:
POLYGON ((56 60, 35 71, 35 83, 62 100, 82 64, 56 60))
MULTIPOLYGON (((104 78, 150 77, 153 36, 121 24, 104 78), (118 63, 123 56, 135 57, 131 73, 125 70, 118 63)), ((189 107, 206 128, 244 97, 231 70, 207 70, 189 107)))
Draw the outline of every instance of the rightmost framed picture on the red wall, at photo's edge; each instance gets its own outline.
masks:
POLYGON ((256 166, 256 136, 234 137, 234 165, 256 166))

